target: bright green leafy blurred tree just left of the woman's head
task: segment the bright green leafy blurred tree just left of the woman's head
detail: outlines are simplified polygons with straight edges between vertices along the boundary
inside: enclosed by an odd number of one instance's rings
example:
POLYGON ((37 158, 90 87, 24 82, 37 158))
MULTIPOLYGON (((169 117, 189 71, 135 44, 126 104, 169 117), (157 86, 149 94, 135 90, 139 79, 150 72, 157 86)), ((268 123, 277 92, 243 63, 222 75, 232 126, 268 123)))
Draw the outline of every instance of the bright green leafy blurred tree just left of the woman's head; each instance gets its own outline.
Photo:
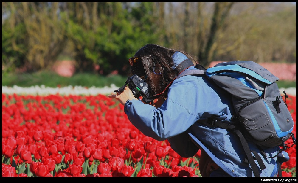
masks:
POLYGON ((113 70, 127 74, 128 58, 140 45, 157 40, 152 36, 152 9, 149 2, 133 7, 121 2, 66 3, 62 17, 75 45, 79 71, 92 71, 98 65, 101 74, 113 70))

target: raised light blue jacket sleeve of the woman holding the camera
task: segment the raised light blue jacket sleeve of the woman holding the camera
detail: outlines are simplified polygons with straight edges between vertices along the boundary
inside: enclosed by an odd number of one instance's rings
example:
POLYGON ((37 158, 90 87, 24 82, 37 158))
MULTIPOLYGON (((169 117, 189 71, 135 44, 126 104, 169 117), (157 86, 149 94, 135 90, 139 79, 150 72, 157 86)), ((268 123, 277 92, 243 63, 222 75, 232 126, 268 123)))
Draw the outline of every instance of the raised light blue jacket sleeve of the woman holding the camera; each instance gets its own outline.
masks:
POLYGON ((198 105, 206 104, 205 100, 208 100, 204 94, 198 93, 204 93, 204 87, 194 84, 191 82, 193 80, 173 83, 167 100, 157 109, 140 100, 128 100, 124 112, 130 122, 146 136, 158 141, 177 136, 187 131, 205 111, 206 105, 198 105))

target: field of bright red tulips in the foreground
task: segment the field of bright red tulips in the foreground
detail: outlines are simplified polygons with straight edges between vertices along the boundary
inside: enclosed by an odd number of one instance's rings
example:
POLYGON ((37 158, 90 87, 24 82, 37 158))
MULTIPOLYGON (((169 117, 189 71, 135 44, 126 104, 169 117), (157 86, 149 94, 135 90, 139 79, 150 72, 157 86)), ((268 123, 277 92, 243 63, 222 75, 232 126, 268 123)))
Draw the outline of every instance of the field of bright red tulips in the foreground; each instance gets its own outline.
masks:
MULTIPOLYGON (((296 96, 286 102, 296 137, 296 96)), ((286 151, 282 175, 296 176, 296 145, 286 151)), ((2 93, 2 177, 200 177, 199 159, 143 135, 105 95, 2 93)))

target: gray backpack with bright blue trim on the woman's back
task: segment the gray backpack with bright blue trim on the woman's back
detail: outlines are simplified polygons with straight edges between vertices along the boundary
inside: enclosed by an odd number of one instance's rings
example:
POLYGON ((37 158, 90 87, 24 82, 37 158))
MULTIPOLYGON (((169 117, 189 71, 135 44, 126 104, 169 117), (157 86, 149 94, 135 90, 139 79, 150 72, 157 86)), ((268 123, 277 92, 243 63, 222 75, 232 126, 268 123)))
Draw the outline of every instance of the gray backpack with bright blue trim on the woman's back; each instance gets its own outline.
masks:
MULTIPOLYGON (((185 70, 176 79, 185 75, 205 74, 216 85, 231 94, 235 109, 235 115, 231 121, 236 123, 227 124, 216 118, 210 118, 205 120, 204 125, 217 126, 236 133, 255 176, 260 176, 260 173, 252 153, 260 169, 263 170, 266 167, 258 154, 249 149, 247 141, 254 142, 260 149, 261 147, 282 147, 274 157, 296 144, 296 138, 292 133, 294 121, 282 98, 286 99, 288 95, 283 91, 284 95, 281 96, 276 84, 279 79, 271 72, 253 61, 218 63, 208 69, 198 64, 195 67, 197 70, 185 70), (290 137, 293 139, 293 144, 289 147, 285 141, 290 137)), ((265 152, 263 155, 266 156, 265 152)))

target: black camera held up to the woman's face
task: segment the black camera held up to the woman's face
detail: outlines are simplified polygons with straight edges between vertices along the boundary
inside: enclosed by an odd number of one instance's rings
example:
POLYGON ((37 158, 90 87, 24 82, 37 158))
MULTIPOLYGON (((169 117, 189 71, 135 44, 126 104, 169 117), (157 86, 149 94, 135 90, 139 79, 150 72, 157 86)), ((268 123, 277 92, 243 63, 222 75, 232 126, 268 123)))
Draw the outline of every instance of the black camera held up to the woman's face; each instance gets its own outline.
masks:
POLYGON ((129 89, 131 89, 132 93, 134 94, 134 97, 139 98, 140 96, 143 97, 142 101, 146 104, 152 103, 153 99, 149 99, 150 90, 148 84, 140 78, 138 75, 133 75, 127 78, 125 85, 120 87, 118 90, 115 90, 114 92, 124 91, 124 88, 128 86, 129 89))

